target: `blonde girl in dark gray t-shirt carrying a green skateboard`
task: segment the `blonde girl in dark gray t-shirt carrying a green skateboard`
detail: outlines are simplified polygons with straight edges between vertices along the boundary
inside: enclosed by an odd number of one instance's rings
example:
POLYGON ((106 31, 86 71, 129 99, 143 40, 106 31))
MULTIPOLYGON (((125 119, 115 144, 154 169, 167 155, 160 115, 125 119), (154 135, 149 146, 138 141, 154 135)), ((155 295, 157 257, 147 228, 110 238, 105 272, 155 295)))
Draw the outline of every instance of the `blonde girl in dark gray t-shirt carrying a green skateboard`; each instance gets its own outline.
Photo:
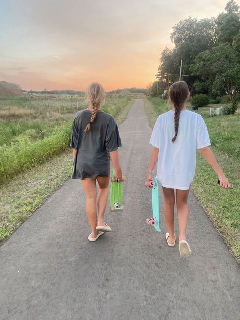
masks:
POLYGON ((104 213, 108 197, 110 159, 116 179, 122 179, 117 150, 121 147, 121 139, 114 117, 101 109, 106 96, 103 87, 92 83, 86 96, 89 106, 76 113, 72 125, 72 178, 81 179, 86 194, 86 213, 92 230, 88 239, 96 241, 104 232, 111 231, 104 222, 104 213), (96 183, 99 186, 98 195, 96 183))

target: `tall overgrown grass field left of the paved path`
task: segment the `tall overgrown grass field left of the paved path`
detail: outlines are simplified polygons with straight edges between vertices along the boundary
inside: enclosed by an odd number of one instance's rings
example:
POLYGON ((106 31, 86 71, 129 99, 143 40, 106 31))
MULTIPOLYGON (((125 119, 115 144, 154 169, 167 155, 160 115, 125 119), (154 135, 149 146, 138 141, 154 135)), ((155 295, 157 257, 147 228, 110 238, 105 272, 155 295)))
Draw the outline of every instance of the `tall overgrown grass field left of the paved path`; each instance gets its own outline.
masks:
MULTIPOLYGON (((108 94, 103 110, 116 116, 131 99, 108 94)), ((70 143, 72 119, 83 108, 84 96, 0 99, 1 183, 62 153, 70 143)))

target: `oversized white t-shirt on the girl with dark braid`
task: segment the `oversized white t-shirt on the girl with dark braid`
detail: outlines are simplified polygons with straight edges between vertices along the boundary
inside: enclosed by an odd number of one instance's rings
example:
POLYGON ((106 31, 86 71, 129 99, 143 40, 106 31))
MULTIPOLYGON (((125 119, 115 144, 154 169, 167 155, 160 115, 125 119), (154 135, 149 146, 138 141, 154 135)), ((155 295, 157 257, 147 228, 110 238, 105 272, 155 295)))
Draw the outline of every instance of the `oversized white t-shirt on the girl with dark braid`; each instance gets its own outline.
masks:
POLYGON ((189 110, 180 113, 177 139, 174 111, 159 115, 150 144, 159 148, 157 179, 166 188, 188 190, 196 170, 196 149, 210 145, 208 130, 202 116, 189 110))

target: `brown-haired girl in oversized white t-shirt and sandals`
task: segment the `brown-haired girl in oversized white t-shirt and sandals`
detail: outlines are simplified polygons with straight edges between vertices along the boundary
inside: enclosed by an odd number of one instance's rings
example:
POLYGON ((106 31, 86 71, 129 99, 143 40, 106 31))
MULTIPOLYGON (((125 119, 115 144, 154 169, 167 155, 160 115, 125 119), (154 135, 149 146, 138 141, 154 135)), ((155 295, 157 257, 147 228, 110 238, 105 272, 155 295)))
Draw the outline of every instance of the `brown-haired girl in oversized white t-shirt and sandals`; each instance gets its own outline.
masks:
POLYGON ((196 149, 199 149, 220 180, 220 186, 230 188, 230 183, 219 167, 210 146, 208 130, 201 115, 187 110, 188 86, 178 81, 169 88, 169 102, 173 109, 159 115, 150 139, 153 145, 148 166, 146 186, 150 186, 152 171, 157 162, 157 179, 164 195, 164 215, 168 232, 166 241, 175 245, 174 204, 177 204, 179 226, 179 251, 181 256, 191 253, 186 241, 188 220, 188 194, 196 167, 196 149), (176 196, 174 193, 176 190, 176 196))

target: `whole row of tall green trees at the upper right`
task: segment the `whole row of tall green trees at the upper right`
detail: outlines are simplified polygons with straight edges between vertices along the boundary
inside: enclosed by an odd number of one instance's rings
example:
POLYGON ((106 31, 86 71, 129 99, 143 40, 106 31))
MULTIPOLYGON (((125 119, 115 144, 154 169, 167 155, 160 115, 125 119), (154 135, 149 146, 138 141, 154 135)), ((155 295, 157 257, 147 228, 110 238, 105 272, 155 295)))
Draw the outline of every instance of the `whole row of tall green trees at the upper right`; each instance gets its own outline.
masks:
POLYGON ((240 91, 240 11, 235 0, 227 3, 217 18, 188 17, 173 27, 174 48, 161 53, 156 78, 147 87, 153 97, 162 95, 175 81, 186 81, 191 95, 212 99, 228 94, 231 104, 240 91))

